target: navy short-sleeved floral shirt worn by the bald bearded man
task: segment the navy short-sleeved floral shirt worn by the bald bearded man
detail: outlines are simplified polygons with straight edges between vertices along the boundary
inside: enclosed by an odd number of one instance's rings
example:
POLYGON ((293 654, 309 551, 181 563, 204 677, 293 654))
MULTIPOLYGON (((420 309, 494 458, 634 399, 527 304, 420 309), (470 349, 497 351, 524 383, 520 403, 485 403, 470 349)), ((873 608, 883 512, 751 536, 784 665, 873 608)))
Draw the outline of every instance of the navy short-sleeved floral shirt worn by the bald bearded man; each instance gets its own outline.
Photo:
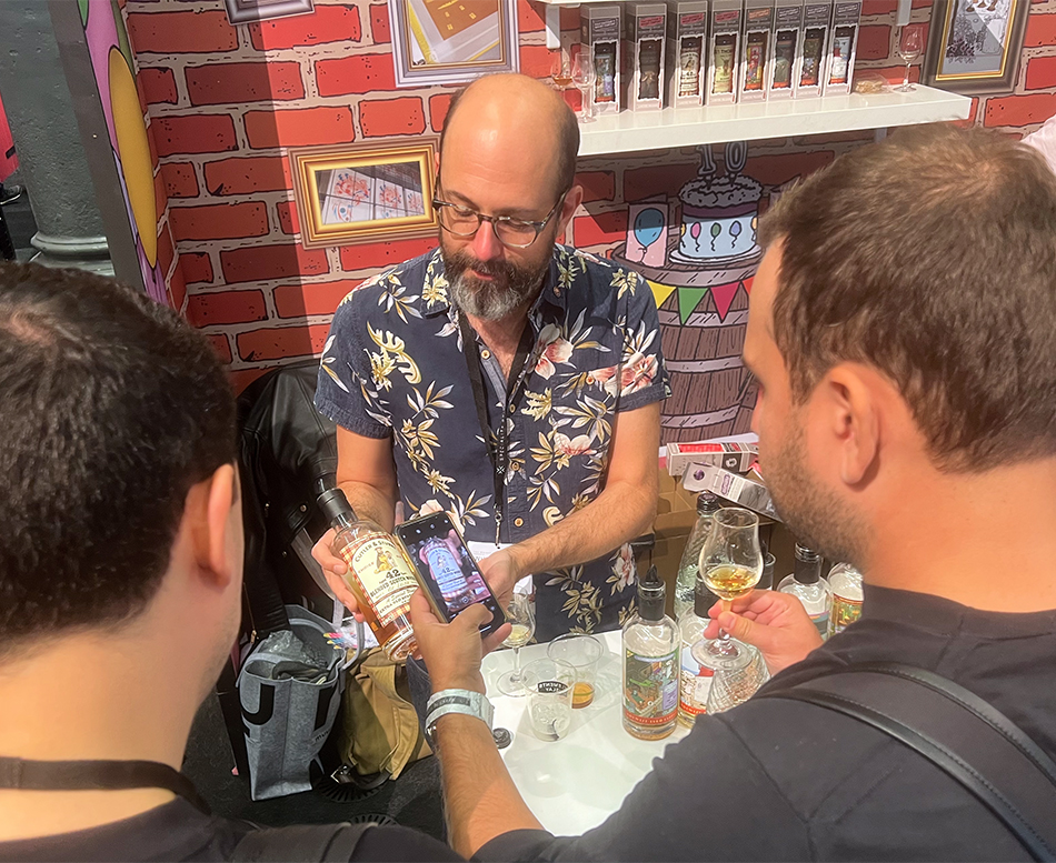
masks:
MULTIPOLYGON (((507 422, 501 541, 519 542, 590 503, 605 485, 612 422, 666 398, 656 304, 637 273, 558 245, 528 313, 534 349, 507 393, 478 339, 492 445, 507 422)), ((352 291, 333 317, 316 407, 368 438, 390 438, 405 513, 447 511, 468 540, 496 541, 495 483, 448 300, 439 250, 352 291)), ((629 544, 535 573, 536 638, 622 624, 635 599, 629 544)))

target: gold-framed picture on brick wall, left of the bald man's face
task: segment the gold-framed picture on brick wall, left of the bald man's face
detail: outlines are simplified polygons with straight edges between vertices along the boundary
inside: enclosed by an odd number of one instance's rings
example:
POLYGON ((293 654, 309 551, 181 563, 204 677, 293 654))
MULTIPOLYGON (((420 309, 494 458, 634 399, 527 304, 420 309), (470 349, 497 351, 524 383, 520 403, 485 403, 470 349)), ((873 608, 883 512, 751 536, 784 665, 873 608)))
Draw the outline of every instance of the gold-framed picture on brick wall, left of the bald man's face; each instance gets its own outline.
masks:
POLYGON ((437 140, 290 149, 306 249, 436 234, 437 140))

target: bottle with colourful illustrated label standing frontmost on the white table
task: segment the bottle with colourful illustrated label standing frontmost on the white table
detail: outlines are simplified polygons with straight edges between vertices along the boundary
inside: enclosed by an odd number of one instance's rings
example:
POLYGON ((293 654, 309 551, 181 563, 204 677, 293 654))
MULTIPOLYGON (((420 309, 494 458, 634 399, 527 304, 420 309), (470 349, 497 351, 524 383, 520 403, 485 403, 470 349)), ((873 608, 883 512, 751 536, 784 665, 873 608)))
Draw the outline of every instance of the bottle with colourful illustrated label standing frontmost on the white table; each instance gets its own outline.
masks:
POLYGON ((666 737, 678 715, 678 629, 664 613, 665 592, 650 566, 624 624, 624 729, 641 740, 666 737))

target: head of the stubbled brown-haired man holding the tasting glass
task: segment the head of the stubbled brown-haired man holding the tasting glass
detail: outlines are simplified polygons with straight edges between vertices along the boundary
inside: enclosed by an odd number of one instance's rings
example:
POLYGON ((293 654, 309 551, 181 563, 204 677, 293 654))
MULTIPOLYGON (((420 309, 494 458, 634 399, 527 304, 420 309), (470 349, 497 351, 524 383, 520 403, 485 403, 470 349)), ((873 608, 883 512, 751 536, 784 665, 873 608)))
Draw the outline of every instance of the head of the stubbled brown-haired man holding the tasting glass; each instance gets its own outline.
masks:
POLYGON ((745 359, 760 464, 801 539, 860 560, 894 470, 1056 454, 1056 177, 1035 152, 900 130, 784 195, 760 234, 745 359))

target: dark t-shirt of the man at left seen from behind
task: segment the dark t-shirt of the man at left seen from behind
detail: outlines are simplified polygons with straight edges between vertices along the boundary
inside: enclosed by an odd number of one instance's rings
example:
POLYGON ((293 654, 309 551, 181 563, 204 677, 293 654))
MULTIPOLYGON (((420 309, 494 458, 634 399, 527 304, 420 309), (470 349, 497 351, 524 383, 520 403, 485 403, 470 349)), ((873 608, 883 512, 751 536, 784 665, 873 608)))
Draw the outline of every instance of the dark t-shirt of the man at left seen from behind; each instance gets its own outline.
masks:
MULTIPOLYGON (((90 830, 54 836, 0 842, 0 861, 203 861, 231 859, 250 827, 203 815, 182 799, 141 815, 90 830)), ((351 855, 353 861, 461 860, 447 845, 408 827, 367 830, 351 855)))

